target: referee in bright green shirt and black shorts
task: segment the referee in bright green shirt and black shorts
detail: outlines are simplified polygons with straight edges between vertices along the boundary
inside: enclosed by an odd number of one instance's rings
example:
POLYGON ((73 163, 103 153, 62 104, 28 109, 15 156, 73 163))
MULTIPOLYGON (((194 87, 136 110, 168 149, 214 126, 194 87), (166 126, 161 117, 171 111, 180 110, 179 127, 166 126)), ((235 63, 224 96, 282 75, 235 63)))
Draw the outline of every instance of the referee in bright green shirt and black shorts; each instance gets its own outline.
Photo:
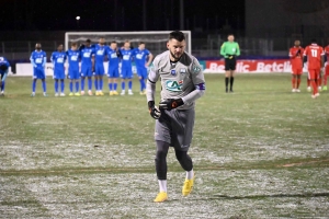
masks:
POLYGON ((232 84, 235 81, 235 70, 237 65, 237 56, 240 56, 239 44, 235 42, 235 36, 229 34, 220 47, 220 55, 225 58, 225 91, 228 93, 228 80, 229 80, 229 92, 232 92, 232 84))

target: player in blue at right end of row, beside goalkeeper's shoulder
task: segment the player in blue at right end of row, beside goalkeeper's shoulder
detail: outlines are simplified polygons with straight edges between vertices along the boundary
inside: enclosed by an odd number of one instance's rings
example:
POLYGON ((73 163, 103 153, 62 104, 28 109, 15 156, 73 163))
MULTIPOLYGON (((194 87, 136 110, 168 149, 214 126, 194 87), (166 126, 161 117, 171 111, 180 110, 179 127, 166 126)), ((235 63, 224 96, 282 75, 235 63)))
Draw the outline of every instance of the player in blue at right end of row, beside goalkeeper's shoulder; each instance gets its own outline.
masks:
POLYGON ((140 82, 140 95, 146 94, 147 69, 154 59, 152 54, 145 48, 145 43, 140 42, 138 48, 135 49, 134 60, 136 64, 137 74, 140 82))

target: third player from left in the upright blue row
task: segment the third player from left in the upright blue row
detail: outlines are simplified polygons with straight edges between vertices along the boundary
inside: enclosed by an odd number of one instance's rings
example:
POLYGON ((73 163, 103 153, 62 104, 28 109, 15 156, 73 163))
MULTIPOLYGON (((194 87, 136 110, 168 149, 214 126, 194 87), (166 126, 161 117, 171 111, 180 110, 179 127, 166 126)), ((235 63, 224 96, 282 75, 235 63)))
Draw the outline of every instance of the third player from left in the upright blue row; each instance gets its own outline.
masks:
POLYGON ((68 76, 70 79, 70 96, 79 96, 79 60, 81 58, 80 50, 78 49, 77 43, 71 44, 71 49, 66 51, 69 64, 68 76), (73 93, 73 82, 76 83, 76 93, 73 93))

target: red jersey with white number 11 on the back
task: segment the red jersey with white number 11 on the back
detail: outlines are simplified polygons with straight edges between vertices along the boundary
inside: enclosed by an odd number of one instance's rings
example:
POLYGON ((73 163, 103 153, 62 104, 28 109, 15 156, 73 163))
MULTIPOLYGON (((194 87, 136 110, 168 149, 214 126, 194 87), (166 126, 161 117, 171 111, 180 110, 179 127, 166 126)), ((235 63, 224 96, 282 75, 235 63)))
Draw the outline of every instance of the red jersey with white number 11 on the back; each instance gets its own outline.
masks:
POLYGON ((304 56, 307 56, 308 69, 321 68, 321 56, 325 55, 324 48, 317 44, 310 44, 304 50, 304 56))

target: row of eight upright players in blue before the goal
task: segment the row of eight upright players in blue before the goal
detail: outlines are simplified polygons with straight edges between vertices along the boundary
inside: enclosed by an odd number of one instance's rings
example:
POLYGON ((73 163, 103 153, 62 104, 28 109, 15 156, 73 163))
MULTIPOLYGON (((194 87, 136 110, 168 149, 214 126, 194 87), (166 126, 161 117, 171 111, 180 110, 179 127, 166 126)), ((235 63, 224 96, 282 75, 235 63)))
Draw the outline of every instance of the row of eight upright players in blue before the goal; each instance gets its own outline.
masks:
MULTIPOLYGON (((145 43, 140 42, 138 48, 131 47, 131 43, 126 41, 123 47, 118 48, 116 42, 111 42, 110 46, 105 45, 105 39, 100 38, 99 44, 91 45, 91 41, 87 39, 83 45, 78 48, 77 43, 71 43, 71 48, 67 51, 63 50, 59 45, 57 51, 52 54, 50 60, 54 66, 55 96, 65 96, 65 64, 68 61, 68 79, 69 95, 84 95, 86 79, 88 81, 88 94, 92 93, 92 76, 94 77, 95 95, 104 95, 103 93, 103 76, 105 74, 104 60, 109 60, 109 90, 110 95, 118 95, 117 79, 121 77, 121 95, 125 95, 126 82, 128 83, 128 94, 133 95, 133 70, 132 62, 135 61, 136 70, 140 82, 140 94, 145 95, 147 69, 152 61, 152 54, 145 48, 145 43), (81 61, 81 70, 79 62, 81 61), (121 64, 121 68, 120 68, 121 64), (81 81, 80 81, 81 79, 81 81), (60 82, 60 92, 59 92, 60 82), (81 82, 81 91, 79 84, 81 82), (75 88, 73 88, 75 87, 75 88)), ((46 93, 46 53, 42 50, 41 44, 36 44, 35 50, 30 58, 33 65, 33 83, 32 94, 35 96, 35 88, 37 79, 42 80, 44 96, 46 93)))

